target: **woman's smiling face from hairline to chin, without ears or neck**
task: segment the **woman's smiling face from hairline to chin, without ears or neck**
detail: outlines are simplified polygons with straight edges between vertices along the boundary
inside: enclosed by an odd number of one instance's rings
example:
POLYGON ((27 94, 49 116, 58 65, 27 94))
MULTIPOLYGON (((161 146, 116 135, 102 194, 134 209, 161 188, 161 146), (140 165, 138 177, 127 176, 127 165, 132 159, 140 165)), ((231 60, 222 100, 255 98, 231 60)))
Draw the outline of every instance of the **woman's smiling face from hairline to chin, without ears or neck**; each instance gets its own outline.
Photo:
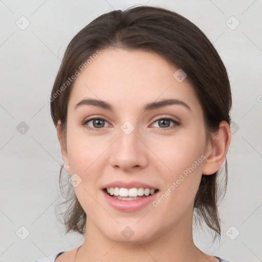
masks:
POLYGON ((90 225, 114 241, 147 242, 191 221, 206 137, 177 70, 155 53, 108 49, 75 80, 63 158, 90 225))

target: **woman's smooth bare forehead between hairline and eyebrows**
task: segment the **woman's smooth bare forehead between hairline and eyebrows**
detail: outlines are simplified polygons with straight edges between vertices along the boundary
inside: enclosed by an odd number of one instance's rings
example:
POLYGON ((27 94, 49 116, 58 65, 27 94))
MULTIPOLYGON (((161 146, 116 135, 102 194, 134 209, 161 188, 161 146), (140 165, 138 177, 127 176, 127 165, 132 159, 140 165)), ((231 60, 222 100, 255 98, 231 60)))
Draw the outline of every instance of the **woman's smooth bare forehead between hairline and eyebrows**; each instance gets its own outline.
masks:
POLYGON ((140 103, 166 98, 200 106, 189 81, 174 78, 177 71, 175 65, 156 53, 104 49, 75 80, 69 106, 83 98, 110 101, 130 110, 140 103))

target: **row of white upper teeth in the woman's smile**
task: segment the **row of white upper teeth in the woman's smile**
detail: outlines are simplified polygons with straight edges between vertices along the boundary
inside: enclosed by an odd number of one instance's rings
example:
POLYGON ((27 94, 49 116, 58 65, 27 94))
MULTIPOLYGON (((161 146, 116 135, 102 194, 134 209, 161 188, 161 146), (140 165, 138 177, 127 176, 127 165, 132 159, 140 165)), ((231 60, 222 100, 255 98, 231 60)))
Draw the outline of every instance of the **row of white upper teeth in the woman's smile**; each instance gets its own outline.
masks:
POLYGON ((119 187, 110 187, 110 188, 106 188, 107 192, 110 195, 114 195, 114 196, 119 196, 119 198, 117 199, 122 199, 122 197, 130 197, 130 199, 126 199, 126 200, 134 200, 136 199, 136 197, 138 196, 142 196, 142 195, 146 195, 148 196, 149 194, 154 194, 155 193, 155 189, 149 189, 149 188, 119 188, 119 187), (132 199, 131 199, 132 198, 132 199))

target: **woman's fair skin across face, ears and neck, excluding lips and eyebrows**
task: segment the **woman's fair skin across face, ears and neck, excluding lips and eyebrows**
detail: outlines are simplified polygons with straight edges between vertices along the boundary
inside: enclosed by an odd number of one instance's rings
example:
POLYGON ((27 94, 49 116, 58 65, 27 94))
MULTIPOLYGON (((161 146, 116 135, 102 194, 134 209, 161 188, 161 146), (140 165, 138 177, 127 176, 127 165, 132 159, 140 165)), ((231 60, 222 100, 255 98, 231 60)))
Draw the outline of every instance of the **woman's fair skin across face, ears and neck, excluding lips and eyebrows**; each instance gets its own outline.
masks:
POLYGON ((230 128, 222 121, 206 146, 202 107, 187 78, 178 82, 173 77, 177 70, 155 53, 106 49, 75 80, 67 136, 62 137, 60 124, 57 135, 67 171, 82 179, 74 190, 87 215, 86 233, 76 259, 74 249, 58 256, 56 262, 219 261, 194 245, 192 214, 202 173, 214 173, 225 160, 230 128), (92 105, 74 109, 84 98, 105 100, 114 113, 92 105), (146 103, 165 98, 183 100, 191 111, 168 105, 143 112, 146 103), (102 127, 94 121, 81 125, 88 117, 105 122, 102 127), (165 117, 180 125, 170 121, 166 130, 159 130, 163 125, 157 120, 165 117), (121 129, 125 121, 135 127, 129 135, 121 129), (87 125, 100 129, 92 131, 87 125), (147 183, 162 194, 201 155, 205 160, 158 207, 149 204, 123 212, 104 200, 101 187, 116 180, 147 183), (129 239, 121 234, 126 226, 134 231, 129 239))

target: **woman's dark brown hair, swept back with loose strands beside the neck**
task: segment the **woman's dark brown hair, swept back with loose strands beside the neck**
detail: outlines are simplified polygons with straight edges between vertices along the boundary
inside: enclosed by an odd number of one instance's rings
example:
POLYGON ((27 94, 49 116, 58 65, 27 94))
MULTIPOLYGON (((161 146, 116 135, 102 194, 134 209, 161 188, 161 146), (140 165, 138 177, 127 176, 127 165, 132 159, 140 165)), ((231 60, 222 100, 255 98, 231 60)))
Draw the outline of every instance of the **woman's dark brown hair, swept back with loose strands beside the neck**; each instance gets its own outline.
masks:
MULTIPOLYGON (((207 141, 211 139, 212 133, 217 132, 221 121, 225 120, 230 125, 232 99, 227 71, 205 34, 176 12, 159 7, 136 6, 100 15, 69 43, 50 97, 52 119, 56 127, 58 121, 61 121, 64 144, 67 106, 74 84, 74 81, 68 82, 68 79, 76 74, 81 64, 86 64, 86 59, 91 59, 99 50, 106 48, 155 52, 182 69, 203 108, 207 141)), ((62 168, 59 176, 60 190, 62 168)), ((202 174, 194 200, 198 221, 203 219, 214 230, 214 239, 221 235, 217 207, 226 192, 227 160, 225 168, 223 183, 219 181, 221 168, 211 175, 202 174)), ((77 200, 73 186, 67 184, 66 201, 61 204, 67 203, 70 206, 64 212, 63 224, 67 233, 75 231, 83 234, 86 214, 77 200)))

